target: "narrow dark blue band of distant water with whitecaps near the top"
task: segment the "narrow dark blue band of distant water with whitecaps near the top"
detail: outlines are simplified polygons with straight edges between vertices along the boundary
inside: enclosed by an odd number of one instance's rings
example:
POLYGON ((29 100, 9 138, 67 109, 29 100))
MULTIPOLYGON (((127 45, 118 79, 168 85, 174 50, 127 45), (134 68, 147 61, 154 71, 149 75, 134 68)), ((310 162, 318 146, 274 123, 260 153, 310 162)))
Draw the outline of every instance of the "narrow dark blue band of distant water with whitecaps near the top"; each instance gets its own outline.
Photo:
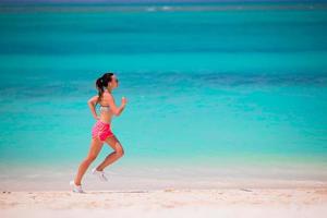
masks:
POLYGON ((262 10, 327 10, 327 2, 219 2, 219 3, 0 3, 0 12, 197 12, 262 10))

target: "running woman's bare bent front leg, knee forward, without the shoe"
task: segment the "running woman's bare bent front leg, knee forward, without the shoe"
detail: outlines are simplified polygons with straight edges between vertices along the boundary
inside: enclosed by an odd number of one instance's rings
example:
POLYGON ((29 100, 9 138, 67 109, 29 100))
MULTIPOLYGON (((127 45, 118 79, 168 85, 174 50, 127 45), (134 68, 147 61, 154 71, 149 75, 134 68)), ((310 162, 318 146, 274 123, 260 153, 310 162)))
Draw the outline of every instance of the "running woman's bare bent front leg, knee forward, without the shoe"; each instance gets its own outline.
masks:
POLYGON ((98 171, 102 171, 108 165, 112 164, 124 155, 124 149, 114 135, 107 137, 106 143, 110 145, 114 152, 109 154, 106 159, 96 168, 98 171))

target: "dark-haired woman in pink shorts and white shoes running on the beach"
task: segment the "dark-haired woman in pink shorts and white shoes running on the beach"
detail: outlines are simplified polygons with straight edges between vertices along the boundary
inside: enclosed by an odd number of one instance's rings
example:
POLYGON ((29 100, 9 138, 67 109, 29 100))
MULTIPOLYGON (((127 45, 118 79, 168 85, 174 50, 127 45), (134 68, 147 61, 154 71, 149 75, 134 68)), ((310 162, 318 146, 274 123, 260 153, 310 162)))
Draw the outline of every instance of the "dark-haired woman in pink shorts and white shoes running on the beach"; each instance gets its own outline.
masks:
POLYGON ((97 175, 100 180, 107 181, 104 169, 122 157, 124 150, 116 135, 111 132, 110 123, 113 116, 120 116, 126 106, 126 98, 122 97, 121 106, 117 107, 114 104, 111 92, 118 87, 118 78, 113 73, 105 73, 96 81, 98 95, 92 97, 87 104, 93 117, 97 120, 92 129, 90 149, 87 157, 80 165, 77 174, 73 181, 70 182, 73 192, 84 193, 82 189, 82 178, 96 159, 102 148, 104 143, 110 145, 114 152, 109 154, 106 159, 96 168, 92 169, 93 174, 97 175), (100 116, 97 116, 96 105, 100 104, 100 116))

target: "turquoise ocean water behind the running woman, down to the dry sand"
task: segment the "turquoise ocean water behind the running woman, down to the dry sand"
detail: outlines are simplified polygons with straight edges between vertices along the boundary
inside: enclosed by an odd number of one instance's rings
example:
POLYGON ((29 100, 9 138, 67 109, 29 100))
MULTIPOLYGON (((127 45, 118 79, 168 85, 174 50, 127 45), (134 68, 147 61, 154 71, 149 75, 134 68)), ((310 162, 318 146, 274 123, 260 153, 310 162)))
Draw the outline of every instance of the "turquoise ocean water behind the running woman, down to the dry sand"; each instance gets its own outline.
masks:
POLYGON ((107 71, 129 100, 112 121, 117 186, 327 180, 326 8, 174 7, 1 8, 2 189, 64 189, 107 71))

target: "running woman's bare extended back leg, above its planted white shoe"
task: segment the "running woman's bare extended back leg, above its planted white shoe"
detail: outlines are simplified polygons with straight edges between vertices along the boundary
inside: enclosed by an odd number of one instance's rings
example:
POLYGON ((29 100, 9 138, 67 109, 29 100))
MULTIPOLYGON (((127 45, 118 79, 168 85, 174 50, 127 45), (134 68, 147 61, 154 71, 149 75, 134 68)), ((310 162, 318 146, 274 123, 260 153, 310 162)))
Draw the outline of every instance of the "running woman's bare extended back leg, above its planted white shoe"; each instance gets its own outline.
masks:
POLYGON ((102 148, 104 143, 99 141, 98 138, 92 138, 90 142, 90 149, 88 152, 87 157, 82 161, 78 168, 78 172, 75 177, 75 184, 81 185, 82 178, 89 167, 89 165, 97 158, 99 152, 102 148))

